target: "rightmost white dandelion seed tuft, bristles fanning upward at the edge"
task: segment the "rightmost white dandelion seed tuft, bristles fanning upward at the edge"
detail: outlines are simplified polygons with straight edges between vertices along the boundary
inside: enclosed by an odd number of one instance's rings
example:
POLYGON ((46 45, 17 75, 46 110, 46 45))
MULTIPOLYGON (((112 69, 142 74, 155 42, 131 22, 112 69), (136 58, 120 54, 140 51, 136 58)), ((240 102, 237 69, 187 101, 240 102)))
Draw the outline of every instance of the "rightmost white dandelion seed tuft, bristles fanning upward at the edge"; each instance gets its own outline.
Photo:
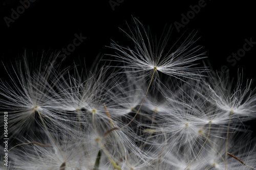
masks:
POLYGON ((250 120, 256 116, 256 88, 251 88, 252 80, 243 83, 243 75, 239 74, 237 83, 234 83, 227 74, 220 78, 214 72, 209 74, 209 78, 208 88, 205 89, 209 92, 208 100, 223 114, 232 112, 232 118, 240 120, 250 120))

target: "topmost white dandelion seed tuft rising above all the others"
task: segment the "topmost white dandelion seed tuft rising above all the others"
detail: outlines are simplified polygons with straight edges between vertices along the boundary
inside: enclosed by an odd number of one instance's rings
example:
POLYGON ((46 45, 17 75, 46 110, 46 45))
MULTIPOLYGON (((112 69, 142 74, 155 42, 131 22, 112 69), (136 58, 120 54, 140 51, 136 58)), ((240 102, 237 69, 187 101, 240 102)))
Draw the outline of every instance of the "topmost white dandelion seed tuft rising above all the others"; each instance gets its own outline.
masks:
MULTIPOLYGON (((111 43, 111 48, 117 51, 116 55, 112 55, 117 58, 118 62, 123 62, 124 66, 117 66, 123 68, 131 68, 131 72, 137 73, 138 71, 150 72, 159 71, 166 75, 176 77, 185 77, 189 79, 195 79, 201 77, 201 72, 205 68, 194 67, 196 64, 193 62, 202 58, 205 53, 197 54, 200 50, 199 46, 193 47, 195 35, 192 33, 178 45, 178 41, 173 46, 167 47, 171 29, 169 29, 166 35, 162 35, 159 42, 156 40, 156 44, 153 42, 151 34, 148 33, 142 24, 134 18, 136 27, 132 31, 129 27, 131 34, 126 35, 134 42, 134 47, 123 47, 116 43, 111 43)), ((151 74, 152 75, 152 74, 151 74)))

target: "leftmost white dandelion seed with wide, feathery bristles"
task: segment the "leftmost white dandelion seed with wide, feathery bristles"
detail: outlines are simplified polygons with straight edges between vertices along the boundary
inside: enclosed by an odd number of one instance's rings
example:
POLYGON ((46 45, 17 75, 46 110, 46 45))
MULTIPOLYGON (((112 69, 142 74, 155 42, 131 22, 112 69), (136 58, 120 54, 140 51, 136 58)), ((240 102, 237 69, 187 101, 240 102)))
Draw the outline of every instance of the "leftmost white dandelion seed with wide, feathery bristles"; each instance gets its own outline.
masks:
POLYGON ((9 133, 14 136, 33 134, 36 124, 45 130, 62 126, 59 120, 63 117, 54 109, 59 105, 56 93, 49 83, 50 77, 55 76, 56 70, 51 65, 54 58, 49 61, 43 58, 33 66, 25 55, 24 61, 16 61, 12 69, 6 67, 9 81, 0 82, 0 109, 9 113, 8 123, 12 125, 9 133))

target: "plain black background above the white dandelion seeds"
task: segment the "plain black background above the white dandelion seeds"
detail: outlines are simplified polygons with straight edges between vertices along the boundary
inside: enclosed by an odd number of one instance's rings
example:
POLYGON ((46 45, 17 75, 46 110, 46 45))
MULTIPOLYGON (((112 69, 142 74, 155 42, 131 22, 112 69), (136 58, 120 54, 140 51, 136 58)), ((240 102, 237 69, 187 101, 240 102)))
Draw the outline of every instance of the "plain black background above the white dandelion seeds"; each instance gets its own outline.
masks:
MULTIPOLYGON (((165 24, 170 26, 175 21, 181 22, 181 14, 186 15, 191 11, 189 6, 198 5, 199 0, 119 2, 119 6, 113 10, 110 1, 36 0, 7 27, 4 17, 11 18, 11 9, 16 11, 21 4, 19 1, 1 1, 1 60, 18 58, 25 49, 28 54, 46 51, 50 55, 67 47, 73 42, 74 34, 81 33, 87 39, 65 61, 69 64, 73 60, 84 59, 90 66, 98 54, 114 53, 105 47, 111 39, 117 43, 126 42, 127 38, 119 27, 127 31, 126 21, 133 26, 132 16, 143 25, 150 26, 152 34, 160 36, 165 24)), ((227 62, 229 55, 243 48, 245 38, 256 41, 253 1, 206 0, 205 3, 206 6, 181 28, 180 33, 174 29, 173 35, 179 37, 186 30, 198 31, 197 36, 201 37, 198 44, 207 52, 206 56, 214 69, 220 70, 226 65, 231 76, 236 77, 239 68, 243 69, 244 79, 255 79, 256 44, 236 65, 231 66, 227 62)))

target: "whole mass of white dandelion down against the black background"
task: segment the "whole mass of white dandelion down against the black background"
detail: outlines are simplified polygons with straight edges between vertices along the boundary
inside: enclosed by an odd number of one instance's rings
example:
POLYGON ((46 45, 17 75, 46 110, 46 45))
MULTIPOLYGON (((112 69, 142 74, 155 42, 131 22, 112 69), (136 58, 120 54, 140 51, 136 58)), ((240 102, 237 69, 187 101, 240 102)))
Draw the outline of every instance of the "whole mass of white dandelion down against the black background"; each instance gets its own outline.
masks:
POLYGON ((112 41, 91 68, 55 68, 57 55, 26 52, 2 63, 9 164, 0 168, 256 169, 244 125, 256 118, 251 80, 202 66, 196 33, 174 40, 170 28, 157 38, 136 18, 126 30, 132 45, 112 41))

